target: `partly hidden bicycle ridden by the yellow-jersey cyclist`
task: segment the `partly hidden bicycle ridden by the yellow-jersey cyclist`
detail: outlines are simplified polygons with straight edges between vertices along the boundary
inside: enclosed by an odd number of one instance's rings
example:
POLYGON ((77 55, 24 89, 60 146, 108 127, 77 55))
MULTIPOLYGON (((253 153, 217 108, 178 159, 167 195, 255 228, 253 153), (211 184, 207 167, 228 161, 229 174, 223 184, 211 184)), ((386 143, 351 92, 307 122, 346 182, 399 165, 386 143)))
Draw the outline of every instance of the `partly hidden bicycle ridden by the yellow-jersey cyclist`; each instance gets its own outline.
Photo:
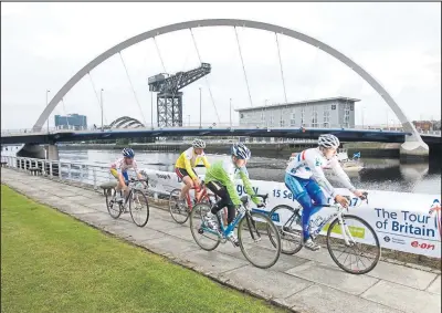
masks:
POLYGON ((189 192, 186 194, 186 204, 187 204, 186 208, 181 208, 178 205, 178 199, 181 194, 181 189, 173 189, 172 191, 170 191, 169 212, 172 219, 178 223, 185 223, 188 220, 190 212, 192 211, 192 207, 194 205, 200 202, 207 202, 210 206, 212 206, 217 200, 215 195, 209 195, 204 181, 201 181, 200 189, 192 187, 191 190, 194 190, 194 198, 192 201, 190 199, 189 192), (198 192, 200 191, 201 194, 198 196, 198 192), (212 200, 212 198, 214 198, 214 200, 212 200))

